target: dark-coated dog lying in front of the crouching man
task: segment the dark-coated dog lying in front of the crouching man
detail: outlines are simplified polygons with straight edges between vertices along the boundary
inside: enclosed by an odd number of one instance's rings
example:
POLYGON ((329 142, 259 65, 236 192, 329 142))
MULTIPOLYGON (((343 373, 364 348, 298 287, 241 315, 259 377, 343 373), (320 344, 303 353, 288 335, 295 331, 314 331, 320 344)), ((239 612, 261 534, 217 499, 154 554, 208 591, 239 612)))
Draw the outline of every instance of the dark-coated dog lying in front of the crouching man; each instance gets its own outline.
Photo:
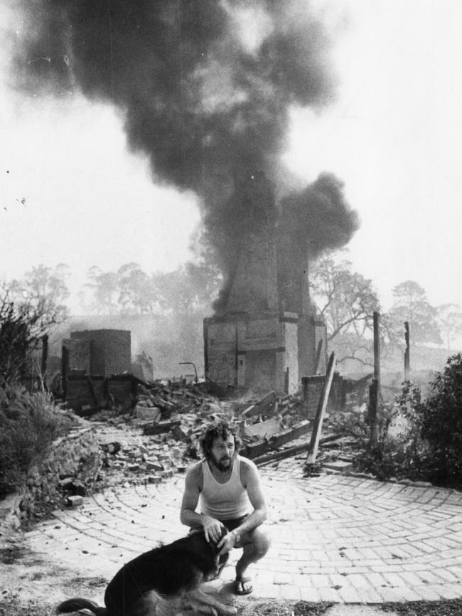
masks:
POLYGON ((228 555, 218 556, 215 543, 203 531, 191 531, 165 546, 154 548, 124 565, 109 582, 104 605, 74 598, 56 608, 58 614, 88 610, 95 616, 168 616, 181 607, 199 614, 234 616, 235 607, 223 605, 200 590, 200 584, 220 575, 228 555))

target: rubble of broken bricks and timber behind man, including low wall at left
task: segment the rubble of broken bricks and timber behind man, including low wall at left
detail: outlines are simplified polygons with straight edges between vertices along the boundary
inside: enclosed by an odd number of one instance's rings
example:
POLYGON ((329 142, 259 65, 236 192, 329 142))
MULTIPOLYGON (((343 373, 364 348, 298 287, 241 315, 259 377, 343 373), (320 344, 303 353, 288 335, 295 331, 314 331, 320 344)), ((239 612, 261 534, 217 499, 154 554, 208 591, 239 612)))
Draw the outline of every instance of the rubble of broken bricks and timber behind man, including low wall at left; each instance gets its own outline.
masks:
MULTIPOLYGON (((184 475, 191 462, 200 459, 200 437, 213 420, 224 419, 235 426, 242 455, 256 464, 277 463, 306 451, 313 430, 313 416, 301 393, 278 395, 270 391, 262 396, 219 400, 205 386, 186 383, 136 379, 136 395, 130 405, 93 407, 93 411, 84 419, 63 408, 77 425, 62 447, 55 444, 45 467, 33 469, 26 493, 18 500, 22 512, 15 505, 18 516, 38 515, 42 507, 56 506, 60 499, 68 506, 78 506, 82 495, 106 487, 158 484, 184 475)), ((358 413, 362 411, 358 409, 358 413)), ((350 415, 333 411, 323 431, 330 435, 321 440, 321 445, 328 445, 321 459, 331 464, 326 464, 331 472, 351 467, 348 450, 352 443, 343 439, 333 444, 333 440, 351 435, 351 430, 345 430, 350 415)))

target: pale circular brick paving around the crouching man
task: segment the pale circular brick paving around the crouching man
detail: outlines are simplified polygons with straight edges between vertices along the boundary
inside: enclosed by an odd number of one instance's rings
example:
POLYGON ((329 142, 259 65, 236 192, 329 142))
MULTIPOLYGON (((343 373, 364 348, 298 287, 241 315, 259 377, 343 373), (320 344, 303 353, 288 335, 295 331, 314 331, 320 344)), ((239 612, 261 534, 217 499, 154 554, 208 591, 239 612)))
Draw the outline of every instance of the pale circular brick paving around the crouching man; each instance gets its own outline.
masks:
MULTIPOLYGON (((302 462, 262 467, 272 547, 252 565, 254 596, 367 602, 462 597, 462 494, 342 474, 303 479, 302 462)), ((184 475, 125 486, 55 511, 28 541, 108 580, 136 554, 186 533, 184 475)), ((209 590, 226 590, 239 551, 209 590)))

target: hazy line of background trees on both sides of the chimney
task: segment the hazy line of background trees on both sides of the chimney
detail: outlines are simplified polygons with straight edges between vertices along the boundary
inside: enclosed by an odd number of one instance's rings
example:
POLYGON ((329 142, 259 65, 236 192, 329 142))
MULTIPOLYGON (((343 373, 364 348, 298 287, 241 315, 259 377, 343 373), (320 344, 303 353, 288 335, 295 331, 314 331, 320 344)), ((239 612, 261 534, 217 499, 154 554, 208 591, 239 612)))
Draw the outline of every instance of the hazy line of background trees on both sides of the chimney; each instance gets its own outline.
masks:
MULTIPOLYGON (((370 366, 372 315, 381 314, 382 349, 404 348, 404 322, 409 323, 412 347, 426 344, 451 346, 462 335, 462 309, 457 304, 432 306, 418 282, 407 280, 392 290, 393 303, 382 310, 372 280, 353 271, 342 253, 332 253, 311 265, 311 301, 326 322, 328 346, 335 350, 338 363, 349 361, 370 366)), ((69 316, 67 280, 70 269, 61 263, 55 268, 38 265, 21 280, 4 282, 8 301, 5 306, 38 307, 53 314, 47 322, 69 316)), ((93 266, 80 291, 82 312, 97 315, 176 315, 188 329, 200 327, 222 285, 220 272, 203 260, 187 262, 173 272, 148 274, 130 262, 114 271, 93 266)), ((194 336, 197 341, 200 336, 194 336)))

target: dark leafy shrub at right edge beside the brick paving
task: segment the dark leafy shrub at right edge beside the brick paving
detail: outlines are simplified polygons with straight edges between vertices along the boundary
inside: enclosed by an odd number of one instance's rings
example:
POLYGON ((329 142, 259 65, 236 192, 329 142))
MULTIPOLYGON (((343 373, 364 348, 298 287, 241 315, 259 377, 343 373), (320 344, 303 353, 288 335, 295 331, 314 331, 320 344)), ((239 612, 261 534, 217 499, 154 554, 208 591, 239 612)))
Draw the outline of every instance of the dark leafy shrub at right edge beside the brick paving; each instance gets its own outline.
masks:
POLYGON ((379 479, 407 477, 462 486, 462 354, 450 357, 430 383, 426 400, 411 382, 402 384, 392 405, 380 408, 377 445, 355 460, 379 479))

